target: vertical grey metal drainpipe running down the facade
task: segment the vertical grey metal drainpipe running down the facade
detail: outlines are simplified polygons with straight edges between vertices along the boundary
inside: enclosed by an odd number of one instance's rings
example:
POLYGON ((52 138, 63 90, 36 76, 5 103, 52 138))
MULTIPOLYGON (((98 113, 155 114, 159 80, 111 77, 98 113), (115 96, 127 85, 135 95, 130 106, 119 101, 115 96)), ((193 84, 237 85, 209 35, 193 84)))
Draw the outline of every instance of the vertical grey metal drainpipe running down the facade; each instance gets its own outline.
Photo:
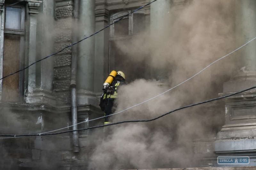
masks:
MULTIPOLYGON (((73 28, 73 43, 77 42, 78 34, 78 6, 79 0, 74 0, 74 28, 73 28)), ((72 46, 71 56, 71 78, 70 78, 70 93, 71 93, 71 114, 72 125, 77 124, 77 106, 76 106, 76 69, 77 69, 77 45, 72 46)), ((72 126, 73 130, 77 129, 77 125, 72 126)), ((79 152, 78 132, 73 132, 73 152, 79 152)))

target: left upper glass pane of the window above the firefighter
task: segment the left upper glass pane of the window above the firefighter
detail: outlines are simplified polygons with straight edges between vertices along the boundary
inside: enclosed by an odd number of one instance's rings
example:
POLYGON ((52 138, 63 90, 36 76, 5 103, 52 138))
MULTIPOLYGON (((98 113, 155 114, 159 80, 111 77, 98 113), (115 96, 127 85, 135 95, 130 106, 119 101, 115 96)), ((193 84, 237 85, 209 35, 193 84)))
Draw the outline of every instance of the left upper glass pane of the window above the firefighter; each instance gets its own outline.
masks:
POLYGON ((129 19, 124 18, 114 24, 114 36, 129 34, 129 19))

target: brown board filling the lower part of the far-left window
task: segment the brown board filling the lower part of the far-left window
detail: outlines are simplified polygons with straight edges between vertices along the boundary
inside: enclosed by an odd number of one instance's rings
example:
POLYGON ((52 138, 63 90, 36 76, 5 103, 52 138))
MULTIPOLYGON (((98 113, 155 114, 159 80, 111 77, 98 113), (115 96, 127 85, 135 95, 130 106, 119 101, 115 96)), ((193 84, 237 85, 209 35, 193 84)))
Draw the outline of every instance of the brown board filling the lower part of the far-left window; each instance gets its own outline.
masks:
MULTIPOLYGON (((3 76, 20 70, 20 36, 4 35, 3 76)), ((19 73, 3 79, 4 101, 19 101, 19 73)))

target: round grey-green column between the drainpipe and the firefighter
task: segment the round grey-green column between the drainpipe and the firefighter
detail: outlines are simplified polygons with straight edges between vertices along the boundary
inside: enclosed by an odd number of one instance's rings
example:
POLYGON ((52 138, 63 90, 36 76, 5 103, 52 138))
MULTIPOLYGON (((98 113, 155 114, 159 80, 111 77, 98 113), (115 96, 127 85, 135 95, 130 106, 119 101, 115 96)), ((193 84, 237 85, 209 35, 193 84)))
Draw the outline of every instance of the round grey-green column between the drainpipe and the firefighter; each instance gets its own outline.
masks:
MULTIPOLYGON (((79 40, 95 33, 95 0, 80 1, 79 40)), ((94 94, 95 36, 78 45, 77 58, 77 104, 98 105, 94 94)))

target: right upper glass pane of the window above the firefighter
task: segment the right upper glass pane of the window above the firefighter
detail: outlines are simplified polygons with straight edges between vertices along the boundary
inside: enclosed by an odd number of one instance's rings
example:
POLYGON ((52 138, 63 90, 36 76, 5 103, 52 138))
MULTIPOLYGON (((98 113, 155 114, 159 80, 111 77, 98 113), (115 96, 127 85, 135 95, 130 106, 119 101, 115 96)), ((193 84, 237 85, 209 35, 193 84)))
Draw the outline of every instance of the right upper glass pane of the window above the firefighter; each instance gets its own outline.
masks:
POLYGON ((132 34, 143 33, 145 30, 145 15, 134 13, 132 20, 132 34))

